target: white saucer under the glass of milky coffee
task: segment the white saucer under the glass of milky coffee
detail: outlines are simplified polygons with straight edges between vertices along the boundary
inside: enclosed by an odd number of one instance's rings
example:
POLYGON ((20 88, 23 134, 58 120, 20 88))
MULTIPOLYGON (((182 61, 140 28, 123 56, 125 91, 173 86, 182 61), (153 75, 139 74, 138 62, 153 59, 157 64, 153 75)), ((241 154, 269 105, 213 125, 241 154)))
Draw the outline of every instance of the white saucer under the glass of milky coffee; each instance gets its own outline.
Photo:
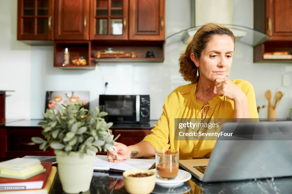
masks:
MULTIPOLYGON (((151 169, 151 171, 156 172, 156 169, 151 169)), ((161 186, 178 186, 182 185, 185 181, 192 178, 192 175, 185 170, 178 170, 178 175, 172 180, 162 180, 156 177, 155 182, 161 186)))

